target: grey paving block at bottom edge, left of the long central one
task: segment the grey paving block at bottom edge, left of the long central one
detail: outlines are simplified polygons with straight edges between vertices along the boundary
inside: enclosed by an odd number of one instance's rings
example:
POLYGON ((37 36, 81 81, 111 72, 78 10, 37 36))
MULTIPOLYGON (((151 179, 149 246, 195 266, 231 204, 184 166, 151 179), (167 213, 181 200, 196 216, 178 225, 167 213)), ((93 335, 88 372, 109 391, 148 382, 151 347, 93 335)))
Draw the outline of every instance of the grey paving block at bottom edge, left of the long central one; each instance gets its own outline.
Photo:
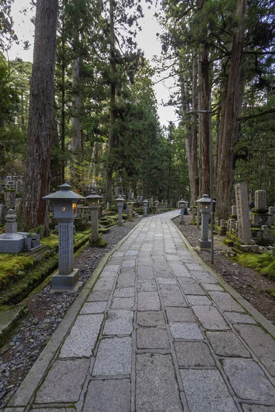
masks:
POLYGON ((83 412, 129 412, 130 391, 129 379, 91 380, 83 412))

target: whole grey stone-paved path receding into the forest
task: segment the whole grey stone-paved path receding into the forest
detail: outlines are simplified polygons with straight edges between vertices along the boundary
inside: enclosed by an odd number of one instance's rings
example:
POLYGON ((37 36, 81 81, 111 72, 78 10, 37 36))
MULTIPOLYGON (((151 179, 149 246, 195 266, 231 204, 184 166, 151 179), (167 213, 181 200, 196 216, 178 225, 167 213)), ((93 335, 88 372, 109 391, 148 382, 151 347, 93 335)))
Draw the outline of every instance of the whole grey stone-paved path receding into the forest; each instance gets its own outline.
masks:
POLYGON ((197 258, 178 214, 144 218, 103 260, 7 412, 275 411, 275 328, 197 258))

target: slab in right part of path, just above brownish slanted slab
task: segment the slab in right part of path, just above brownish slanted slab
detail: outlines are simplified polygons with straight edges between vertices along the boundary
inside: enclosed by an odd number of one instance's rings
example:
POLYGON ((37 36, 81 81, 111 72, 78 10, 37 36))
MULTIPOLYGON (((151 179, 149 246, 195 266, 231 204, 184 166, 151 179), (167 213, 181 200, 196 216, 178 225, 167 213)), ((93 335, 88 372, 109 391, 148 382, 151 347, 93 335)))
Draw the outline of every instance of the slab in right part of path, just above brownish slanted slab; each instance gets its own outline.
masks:
POLYGON ((192 306, 195 315, 199 319, 203 328, 208 330, 228 330, 230 327, 225 319, 214 306, 192 306))

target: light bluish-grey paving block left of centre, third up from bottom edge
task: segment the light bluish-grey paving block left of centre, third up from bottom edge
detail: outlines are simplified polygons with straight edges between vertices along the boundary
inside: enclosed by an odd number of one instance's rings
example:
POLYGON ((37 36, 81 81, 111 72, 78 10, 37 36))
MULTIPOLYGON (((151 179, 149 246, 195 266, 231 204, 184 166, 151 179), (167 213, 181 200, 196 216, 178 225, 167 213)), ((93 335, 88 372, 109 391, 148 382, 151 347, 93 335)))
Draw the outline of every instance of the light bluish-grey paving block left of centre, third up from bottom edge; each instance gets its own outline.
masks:
POLYGON ((133 332, 132 310, 109 310, 103 334, 130 335, 133 332))

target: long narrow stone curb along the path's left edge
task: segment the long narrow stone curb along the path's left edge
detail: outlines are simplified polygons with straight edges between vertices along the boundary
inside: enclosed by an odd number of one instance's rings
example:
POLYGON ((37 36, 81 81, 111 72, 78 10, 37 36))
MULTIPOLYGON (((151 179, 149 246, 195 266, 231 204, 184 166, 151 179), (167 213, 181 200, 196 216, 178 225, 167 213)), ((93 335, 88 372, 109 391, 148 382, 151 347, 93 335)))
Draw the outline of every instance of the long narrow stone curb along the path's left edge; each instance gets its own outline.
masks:
POLYGON ((52 335, 49 343, 47 343, 45 349, 39 355, 39 358, 36 359, 34 365, 21 383, 17 392, 14 393, 14 396, 12 400, 10 400, 8 407, 5 408, 6 412, 15 412, 14 407, 25 408, 28 405, 43 376, 45 376, 47 369, 50 367, 50 365, 52 365, 61 343, 65 339, 69 328, 71 328, 72 324, 74 323, 76 315, 78 314, 81 306, 83 306, 83 303, 87 298, 87 295, 89 295, 91 288, 96 283, 96 280, 102 272, 104 265, 109 260, 110 256, 120 248, 121 244, 125 242, 125 240, 129 236, 131 236, 131 233, 135 230, 139 223, 137 223, 137 225, 133 227, 133 229, 129 231, 129 233, 127 233, 126 236, 124 236, 124 238, 120 240, 120 242, 115 244, 111 251, 107 252, 106 255, 104 255, 104 257, 96 267, 94 273, 91 275, 89 281, 87 282, 87 284, 85 284, 80 295, 76 298, 74 304, 67 312, 65 318, 56 329, 56 332, 54 332, 54 334, 52 335))

